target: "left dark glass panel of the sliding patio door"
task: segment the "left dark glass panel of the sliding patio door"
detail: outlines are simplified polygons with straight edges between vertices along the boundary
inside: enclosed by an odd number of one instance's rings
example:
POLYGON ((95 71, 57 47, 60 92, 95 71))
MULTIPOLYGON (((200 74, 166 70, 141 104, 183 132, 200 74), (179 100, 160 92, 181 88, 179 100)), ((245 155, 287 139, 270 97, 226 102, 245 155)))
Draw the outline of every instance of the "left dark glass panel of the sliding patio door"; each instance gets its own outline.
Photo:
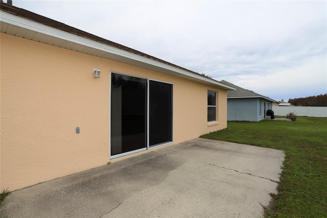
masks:
POLYGON ((110 154, 147 147, 147 80, 111 74, 110 154))

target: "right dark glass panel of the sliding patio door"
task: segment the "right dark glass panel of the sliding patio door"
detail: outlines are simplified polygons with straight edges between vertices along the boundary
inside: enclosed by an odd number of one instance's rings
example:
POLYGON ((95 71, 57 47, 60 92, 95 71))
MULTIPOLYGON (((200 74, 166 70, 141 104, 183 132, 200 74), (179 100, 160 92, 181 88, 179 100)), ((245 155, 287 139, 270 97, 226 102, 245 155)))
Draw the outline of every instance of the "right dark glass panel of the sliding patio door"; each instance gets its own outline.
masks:
POLYGON ((173 140, 173 85, 149 81, 149 146, 173 140))

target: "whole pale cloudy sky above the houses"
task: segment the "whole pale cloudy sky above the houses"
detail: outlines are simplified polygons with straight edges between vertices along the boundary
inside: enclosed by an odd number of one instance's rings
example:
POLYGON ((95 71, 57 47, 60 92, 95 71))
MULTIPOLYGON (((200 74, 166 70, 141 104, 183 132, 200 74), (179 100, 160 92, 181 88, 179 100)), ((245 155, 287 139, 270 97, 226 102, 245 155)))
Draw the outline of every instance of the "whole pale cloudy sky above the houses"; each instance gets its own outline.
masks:
POLYGON ((13 6, 274 100, 327 93, 326 1, 13 0, 13 6))

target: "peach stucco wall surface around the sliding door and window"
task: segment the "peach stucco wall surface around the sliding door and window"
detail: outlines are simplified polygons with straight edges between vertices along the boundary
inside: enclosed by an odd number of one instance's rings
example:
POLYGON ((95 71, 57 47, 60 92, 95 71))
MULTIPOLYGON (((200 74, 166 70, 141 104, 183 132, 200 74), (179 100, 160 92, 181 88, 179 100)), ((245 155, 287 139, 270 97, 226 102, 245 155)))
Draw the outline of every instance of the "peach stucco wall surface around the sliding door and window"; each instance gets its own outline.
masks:
POLYGON ((1 190, 109 161, 110 71, 174 84, 174 144, 227 127, 224 90, 1 33, 1 190), (213 126, 207 90, 218 93, 213 126))

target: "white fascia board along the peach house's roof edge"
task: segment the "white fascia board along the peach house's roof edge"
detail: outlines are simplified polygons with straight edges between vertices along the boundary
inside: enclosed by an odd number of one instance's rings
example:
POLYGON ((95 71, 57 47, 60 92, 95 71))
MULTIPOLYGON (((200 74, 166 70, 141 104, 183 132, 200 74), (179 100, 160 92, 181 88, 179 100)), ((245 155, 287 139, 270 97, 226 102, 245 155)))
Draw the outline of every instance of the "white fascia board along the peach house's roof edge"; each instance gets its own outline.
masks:
POLYGON ((62 31, 62 30, 59 30, 56 28, 52 28, 52 27, 49 27, 49 26, 46 26, 43 24, 39 24, 35 21, 29 20, 26 18, 22 18, 22 17, 16 16, 16 15, 4 12, 4 11, 1 11, 0 17, 1 17, 2 22, 10 24, 10 25, 14 25, 14 26, 25 28, 25 29, 32 30, 32 31, 36 31, 36 32, 39 32, 39 33, 42 33, 45 35, 50 35, 50 36, 53 36, 56 38, 71 41, 71 42, 74 42, 74 43, 77 43, 77 44, 80 44, 83 46, 87 46, 90 48, 98 49, 98 50, 101 50, 104 52, 108 52, 111 54, 129 58, 132 60, 147 63, 152 66, 156 66, 156 67, 159 67, 162 69, 173 71, 177 74, 176 76, 178 76, 178 74, 180 74, 180 75, 183 75, 186 77, 190 77, 193 80, 197 80, 201 83, 218 86, 219 88, 224 89, 224 90, 235 90, 235 88, 232 88, 229 85, 226 85, 224 83, 221 83, 219 81, 216 81, 216 80, 213 80, 213 79, 210 79, 207 77, 203 77, 201 75, 197 75, 196 73, 191 73, 191 72, 170 66, 169 64, 161 63, 157 60, 152 60, 147 57, 143 57, 143 56, 133 54, 128 51, 124 51, 122 49, 118 49, 118 48, 114 48, 112 46, 105 45, 104 43, 101 43, 101 42, 97 42, 97 41, 94 41, 91 39, 84 38, 82 36, 78 36, 78 35, 68 33, 68 32, 65 32, 65 31, 62 31))

